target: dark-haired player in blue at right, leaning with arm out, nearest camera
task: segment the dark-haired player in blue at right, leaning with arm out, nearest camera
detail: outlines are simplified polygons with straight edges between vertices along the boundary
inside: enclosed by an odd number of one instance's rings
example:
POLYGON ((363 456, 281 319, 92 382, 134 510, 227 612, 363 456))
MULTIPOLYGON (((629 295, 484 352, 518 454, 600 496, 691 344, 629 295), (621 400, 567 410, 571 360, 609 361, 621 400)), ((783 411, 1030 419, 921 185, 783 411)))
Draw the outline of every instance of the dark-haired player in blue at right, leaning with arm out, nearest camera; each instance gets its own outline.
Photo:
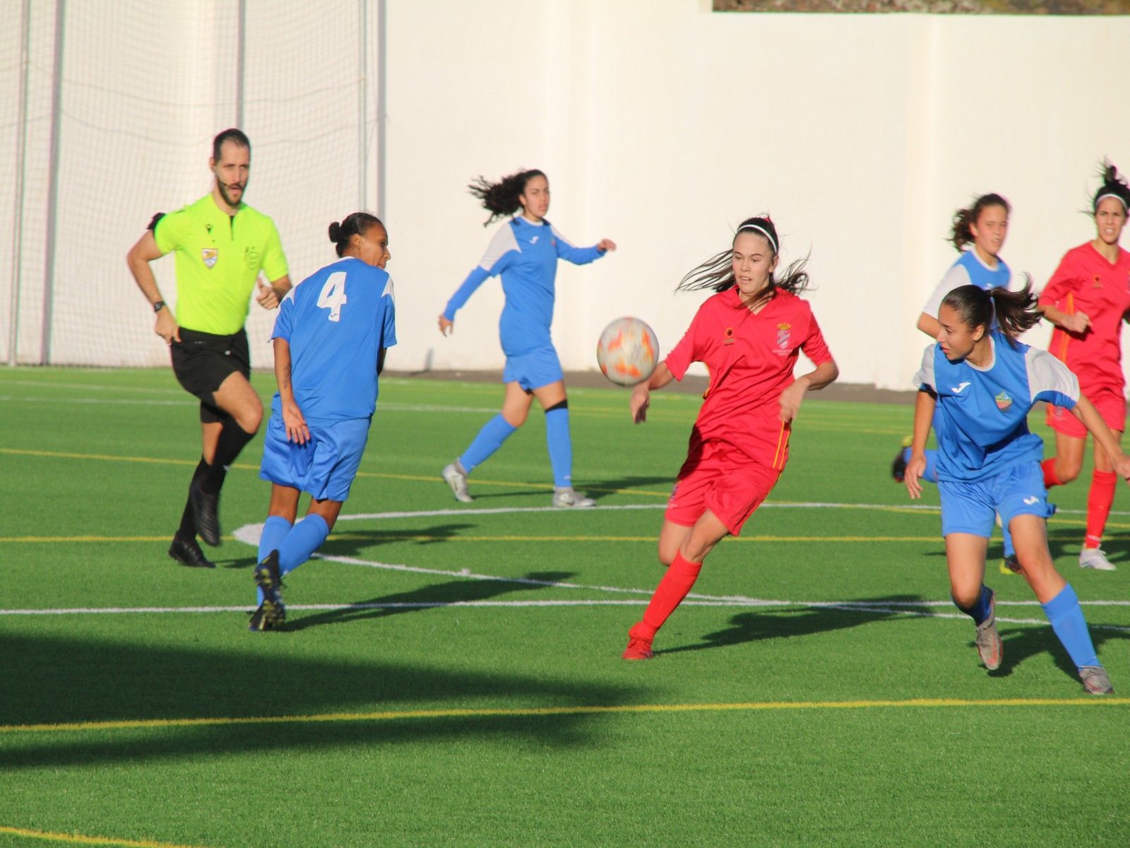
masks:
POLYGON ((1000 666, 996 595, 984 585, 985 552, 993 517, 1012 533, 1020 573, 1036 594, 1052 630, 1092 694, 1112 692, 1083 617, 1079 600, 1055 570, 1048 550, 1043 440, 1028 431, 1037 401, 1071 409, 1114 468, 1130 478, 1130 458, 1095 407, 1079 392, 1078 378, 1046 351, 1016 341, 1040 320, 1029 285, 1009 292, 966 285, 949 292, 938 311, 938 343, 927 347, 914 377, 914 436, 905 483, 922 494, 925 442, 931 419, 938 440, 938 492, 946 539, 950 595, 976 624, 976 648, 989 669, 1000 666))

